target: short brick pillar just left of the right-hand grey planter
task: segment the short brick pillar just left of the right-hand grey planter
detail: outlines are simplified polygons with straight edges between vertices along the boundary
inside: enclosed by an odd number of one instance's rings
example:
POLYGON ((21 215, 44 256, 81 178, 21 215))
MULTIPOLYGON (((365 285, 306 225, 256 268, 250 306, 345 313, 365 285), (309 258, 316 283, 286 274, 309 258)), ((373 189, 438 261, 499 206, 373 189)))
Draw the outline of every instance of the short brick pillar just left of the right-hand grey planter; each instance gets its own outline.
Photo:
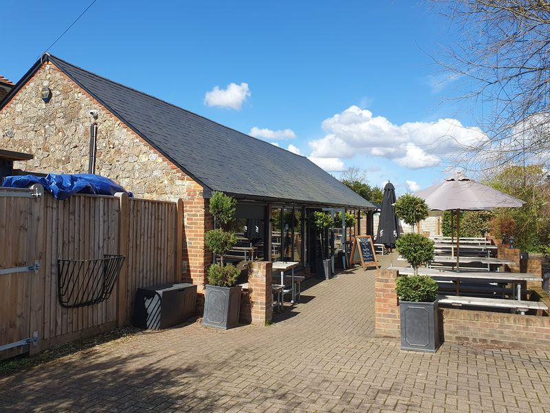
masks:
POLYGON ((377 337, 400 337, 399 301, 395 281, 399 273, 378 270, 375 277, 375 335, 377 337))

